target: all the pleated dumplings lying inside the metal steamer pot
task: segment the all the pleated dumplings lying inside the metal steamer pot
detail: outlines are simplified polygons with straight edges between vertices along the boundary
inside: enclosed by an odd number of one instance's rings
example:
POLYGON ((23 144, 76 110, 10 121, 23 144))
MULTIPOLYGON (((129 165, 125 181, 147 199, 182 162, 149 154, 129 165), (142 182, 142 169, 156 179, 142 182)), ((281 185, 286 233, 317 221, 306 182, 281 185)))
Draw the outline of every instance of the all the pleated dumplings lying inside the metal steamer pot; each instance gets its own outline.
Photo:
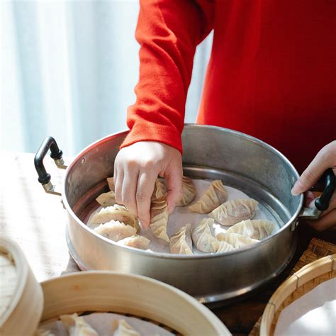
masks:
MULTIPOLYGON (((116 204, 113 178, 108 178, 108 193, 99 195, 96 201, 103 206, 90 220, 96 233, 117 242, 142 250, 147 250, 150 240, 138 235, 140 225, 138 218, 124 206, 116 204)), ((167 189, 157 179, 152 194, 150 208, 150 230, 162 241, 169 244, 173 254, 194 254, 193 246, 198 251, 208 253, 230 252, 247 245, 252 245, 268 237, 275 225, 269 220, 252 220, 258 208, 258 202, 252 198, 233 199, 228 201, 228 191, 222 181, 212 181, 204 194, 190 205, 196 198, 194 181, 189 177, 182 179, 183 196, 177 206, 188 206, 194 213, 208 214, 194 228, 186 223, 174 235, 167 235, 168 206, 167 189), (230 226, 225 233, 213 233, 213 224, 230 226)))

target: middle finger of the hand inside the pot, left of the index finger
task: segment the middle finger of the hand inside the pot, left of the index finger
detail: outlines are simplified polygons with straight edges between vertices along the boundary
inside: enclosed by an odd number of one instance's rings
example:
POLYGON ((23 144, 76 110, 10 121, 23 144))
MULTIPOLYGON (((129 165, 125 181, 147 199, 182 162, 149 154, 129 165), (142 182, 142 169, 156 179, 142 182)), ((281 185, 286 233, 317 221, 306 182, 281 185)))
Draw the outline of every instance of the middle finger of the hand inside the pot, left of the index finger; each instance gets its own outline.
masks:
POLYGON ((128 208, 130 213, 133 213, 133 215, 136 216, 138 216, 138 209, 135 200, 135 192, 138 184, 138 174, 139 172, 136 170, 125 169, 121 191, 123 205, 128 208))

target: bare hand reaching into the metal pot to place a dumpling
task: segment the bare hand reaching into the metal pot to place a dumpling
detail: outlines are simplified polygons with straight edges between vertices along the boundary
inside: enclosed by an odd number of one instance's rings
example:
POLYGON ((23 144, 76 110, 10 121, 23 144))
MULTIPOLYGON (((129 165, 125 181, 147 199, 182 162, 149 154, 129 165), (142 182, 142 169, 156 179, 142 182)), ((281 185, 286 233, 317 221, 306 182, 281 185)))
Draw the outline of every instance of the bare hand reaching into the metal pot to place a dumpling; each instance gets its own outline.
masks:
POLYGON ((161 142, 140 141, 122 148, 114 162, 116 202, 136 215, 143 228, 150 225, 150 201, 157 176, 167 180, 169 213, 182 196, 179 150, 161 142))

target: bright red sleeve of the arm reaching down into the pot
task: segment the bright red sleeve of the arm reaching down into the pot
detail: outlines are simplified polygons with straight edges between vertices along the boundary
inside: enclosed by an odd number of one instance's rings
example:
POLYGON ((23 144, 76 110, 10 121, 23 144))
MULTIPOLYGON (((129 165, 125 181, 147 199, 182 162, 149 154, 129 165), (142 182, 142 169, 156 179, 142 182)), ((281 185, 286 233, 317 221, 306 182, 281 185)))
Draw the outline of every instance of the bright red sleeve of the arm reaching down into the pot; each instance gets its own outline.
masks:
POLYGON ((121 147, 159 141, 182 152, 186 94, 196 45, 213 26, 210 0, 140 0, 137 100, 128 108, 130 133, 121 147))

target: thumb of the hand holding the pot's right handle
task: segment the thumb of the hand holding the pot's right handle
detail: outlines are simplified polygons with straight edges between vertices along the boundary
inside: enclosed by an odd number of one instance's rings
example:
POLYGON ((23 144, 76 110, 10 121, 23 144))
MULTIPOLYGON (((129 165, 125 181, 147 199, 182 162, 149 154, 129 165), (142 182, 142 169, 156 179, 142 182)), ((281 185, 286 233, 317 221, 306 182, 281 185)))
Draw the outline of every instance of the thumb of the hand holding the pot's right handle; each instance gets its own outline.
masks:
POLYGON ((310 162, 308 168, 302 173, 296 184, 294 184, 291 190, 293 196, 309 190, 320 179, 327 168, 335 165, 335 154, 332 155, 332 153, 335 153, 334 147, 335 143, 331 142, 318 152, 313 161, 310 162))

